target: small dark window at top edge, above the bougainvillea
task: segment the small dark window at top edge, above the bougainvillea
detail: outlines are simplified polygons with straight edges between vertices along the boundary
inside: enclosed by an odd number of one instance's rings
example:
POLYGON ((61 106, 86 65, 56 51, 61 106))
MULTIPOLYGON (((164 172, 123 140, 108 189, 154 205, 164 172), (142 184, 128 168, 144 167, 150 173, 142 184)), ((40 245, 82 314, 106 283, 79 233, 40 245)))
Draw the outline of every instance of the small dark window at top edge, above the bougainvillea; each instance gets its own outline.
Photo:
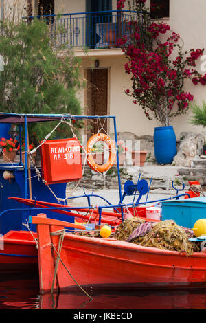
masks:
POLYGON ((170 0, 151 0, 151 18, 168 18, 170 16, 170 0))

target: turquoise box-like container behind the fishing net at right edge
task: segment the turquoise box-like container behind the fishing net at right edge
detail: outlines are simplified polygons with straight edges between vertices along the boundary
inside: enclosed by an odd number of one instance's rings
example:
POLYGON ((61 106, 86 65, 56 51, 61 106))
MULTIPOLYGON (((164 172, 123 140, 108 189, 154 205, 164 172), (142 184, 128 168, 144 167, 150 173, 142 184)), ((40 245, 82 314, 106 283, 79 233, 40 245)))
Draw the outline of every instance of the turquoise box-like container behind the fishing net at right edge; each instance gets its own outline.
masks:
POLYGON ((206 219, 206 197, 194 197, 162 203, 162 220, 192 228, 198 219, 206 219))

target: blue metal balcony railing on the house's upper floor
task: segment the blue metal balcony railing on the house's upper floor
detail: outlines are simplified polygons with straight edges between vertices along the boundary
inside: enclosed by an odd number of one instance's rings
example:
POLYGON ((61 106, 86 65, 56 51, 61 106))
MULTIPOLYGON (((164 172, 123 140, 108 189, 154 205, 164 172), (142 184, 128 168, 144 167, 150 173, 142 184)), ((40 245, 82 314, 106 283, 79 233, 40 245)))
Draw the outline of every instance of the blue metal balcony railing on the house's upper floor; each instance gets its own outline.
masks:
POLYGON ((111 10, 79 12, 61 15, 23 17, 25 22, 43 19, 49 25, 55 47, 68 45, 75 49, 106 49, 117 47, 117 39, 128 34, 127 23, 137 21, 141 38, 146 43, 145 28, 148 16, 142 12, 111 10))

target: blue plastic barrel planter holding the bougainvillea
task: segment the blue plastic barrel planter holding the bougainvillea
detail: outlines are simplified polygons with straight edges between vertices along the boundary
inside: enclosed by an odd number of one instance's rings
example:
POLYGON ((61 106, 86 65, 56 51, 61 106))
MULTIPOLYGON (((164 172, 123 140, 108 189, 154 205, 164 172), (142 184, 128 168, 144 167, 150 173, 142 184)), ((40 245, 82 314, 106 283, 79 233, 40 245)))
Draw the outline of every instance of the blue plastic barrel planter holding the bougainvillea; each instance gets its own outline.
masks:
POLYGON ((176 155, 176 136, 173 126, 160 126, 154 132, 155 158, 158 164, 171 164, 176 155))

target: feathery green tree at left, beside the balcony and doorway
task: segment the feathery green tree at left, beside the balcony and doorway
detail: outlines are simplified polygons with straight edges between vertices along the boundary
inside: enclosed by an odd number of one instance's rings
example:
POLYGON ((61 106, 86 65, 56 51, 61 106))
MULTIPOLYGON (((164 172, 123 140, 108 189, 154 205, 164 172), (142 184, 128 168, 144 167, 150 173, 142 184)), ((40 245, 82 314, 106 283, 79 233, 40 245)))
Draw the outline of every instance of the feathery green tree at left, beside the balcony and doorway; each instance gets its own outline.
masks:
MULTIPOLYGON (((80 114, 80 62, 71 49, 66 45, 55 48, 55 35, 50 37, 49 24, 42 20, 0 23, 0 54, 5 61, 0 74, 0 111, 80 114)), ((49 122, 32 124, 30 140, 43 139, 53 127, 49 122)), ((68 135, 65 130, 60 132, 68 135)))

